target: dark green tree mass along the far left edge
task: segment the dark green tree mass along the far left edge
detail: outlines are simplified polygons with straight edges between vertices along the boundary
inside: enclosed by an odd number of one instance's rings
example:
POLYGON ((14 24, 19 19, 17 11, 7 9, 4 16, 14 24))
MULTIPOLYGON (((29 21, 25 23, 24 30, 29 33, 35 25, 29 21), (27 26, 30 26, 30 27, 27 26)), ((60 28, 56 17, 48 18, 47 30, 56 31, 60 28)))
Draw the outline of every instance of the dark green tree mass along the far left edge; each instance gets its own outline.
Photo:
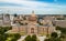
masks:
POLYGON ((11 27, 0 27, 0 41, 6 41, 7 34, 4 32, 7 32, 10 29, 11 27))

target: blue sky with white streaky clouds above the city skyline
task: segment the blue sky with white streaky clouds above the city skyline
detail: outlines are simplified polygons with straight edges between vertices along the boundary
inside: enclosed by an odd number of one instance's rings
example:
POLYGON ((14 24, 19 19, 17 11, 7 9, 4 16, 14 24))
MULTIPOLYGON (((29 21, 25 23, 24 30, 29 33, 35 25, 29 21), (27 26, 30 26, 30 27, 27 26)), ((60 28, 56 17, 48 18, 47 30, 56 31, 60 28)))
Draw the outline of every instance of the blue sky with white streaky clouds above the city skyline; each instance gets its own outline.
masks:
POLYGON ((0 0, 0 14, 66 14, 66 0, 0 0))

